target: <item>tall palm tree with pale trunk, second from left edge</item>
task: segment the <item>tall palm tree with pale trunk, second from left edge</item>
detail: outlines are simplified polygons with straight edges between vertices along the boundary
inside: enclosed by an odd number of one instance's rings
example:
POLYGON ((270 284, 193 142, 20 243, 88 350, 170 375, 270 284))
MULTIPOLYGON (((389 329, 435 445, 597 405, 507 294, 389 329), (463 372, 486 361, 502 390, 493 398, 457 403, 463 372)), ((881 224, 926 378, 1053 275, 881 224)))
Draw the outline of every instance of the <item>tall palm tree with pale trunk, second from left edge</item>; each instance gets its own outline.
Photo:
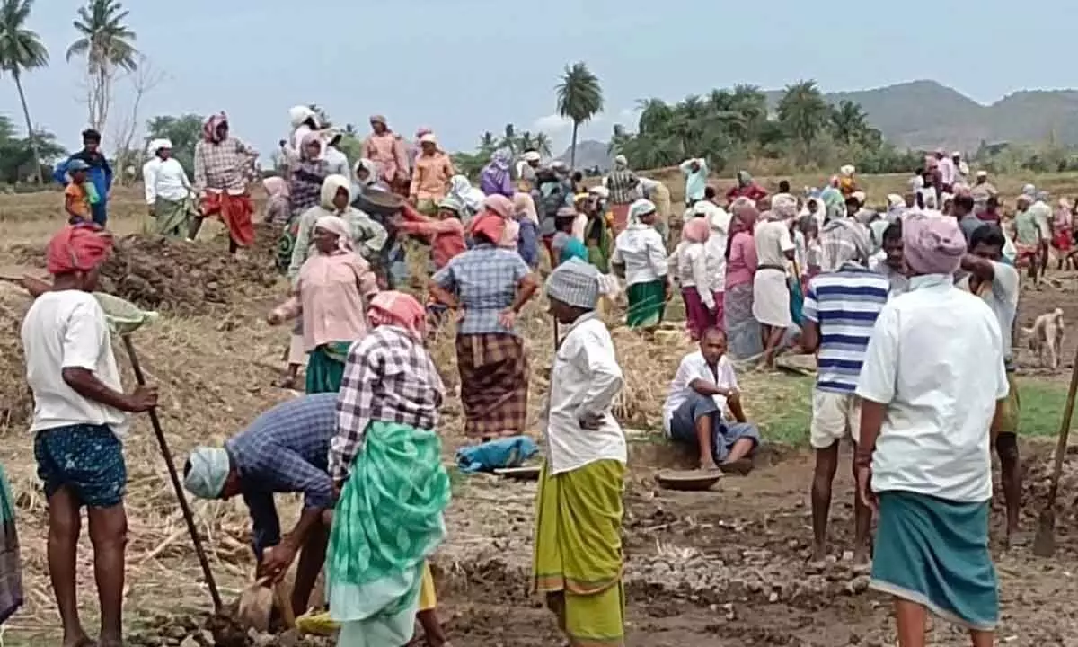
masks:
POLYGON ((124 24, 128 13, 119 0, 87 0, 86 6, 79 8, 79 19, 72 23, 81 36, 68 47, 67 59, 86 57, 89 121, 99 132, 108 116, 115 70, 134 71, 138 67, 135 32, 124 24))

